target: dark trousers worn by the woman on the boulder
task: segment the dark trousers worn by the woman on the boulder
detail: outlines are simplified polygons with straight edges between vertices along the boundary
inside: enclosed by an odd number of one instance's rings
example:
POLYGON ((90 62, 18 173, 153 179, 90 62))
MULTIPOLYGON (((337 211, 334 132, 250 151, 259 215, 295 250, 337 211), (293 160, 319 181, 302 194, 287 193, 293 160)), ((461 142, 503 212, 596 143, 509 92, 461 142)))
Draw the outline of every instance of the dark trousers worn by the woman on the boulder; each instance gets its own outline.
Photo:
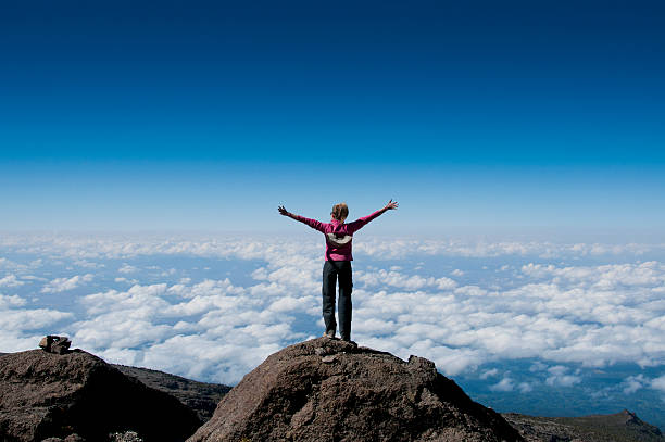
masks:
POLYGON ((353 278, 350 261, 326 261, 323 273, 323 314, 326 332, 335 333, 335 292, 339 280, 339 334, 346 341, 351 340, 351 291, 353 278))

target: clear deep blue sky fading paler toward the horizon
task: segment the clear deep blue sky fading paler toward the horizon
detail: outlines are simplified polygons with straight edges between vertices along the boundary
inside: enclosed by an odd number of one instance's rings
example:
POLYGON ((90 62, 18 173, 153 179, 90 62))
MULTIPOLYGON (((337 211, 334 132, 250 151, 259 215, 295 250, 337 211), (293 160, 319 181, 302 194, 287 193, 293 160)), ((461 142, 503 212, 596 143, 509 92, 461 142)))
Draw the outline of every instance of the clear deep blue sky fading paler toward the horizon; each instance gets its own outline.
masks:
POLYGON ((3 5, 1 229, 665 224, 660 2, 136 3, 3 5))

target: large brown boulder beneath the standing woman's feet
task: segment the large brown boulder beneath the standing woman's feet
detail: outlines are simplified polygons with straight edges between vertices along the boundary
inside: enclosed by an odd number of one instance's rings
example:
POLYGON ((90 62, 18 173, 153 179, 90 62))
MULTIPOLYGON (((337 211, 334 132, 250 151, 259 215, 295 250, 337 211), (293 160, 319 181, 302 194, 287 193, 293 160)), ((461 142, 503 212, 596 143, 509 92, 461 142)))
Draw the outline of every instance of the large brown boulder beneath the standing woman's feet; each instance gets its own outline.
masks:
POLYGON ((434 363, 315 339, 271 355, 189 441, 522 441, 434 363))

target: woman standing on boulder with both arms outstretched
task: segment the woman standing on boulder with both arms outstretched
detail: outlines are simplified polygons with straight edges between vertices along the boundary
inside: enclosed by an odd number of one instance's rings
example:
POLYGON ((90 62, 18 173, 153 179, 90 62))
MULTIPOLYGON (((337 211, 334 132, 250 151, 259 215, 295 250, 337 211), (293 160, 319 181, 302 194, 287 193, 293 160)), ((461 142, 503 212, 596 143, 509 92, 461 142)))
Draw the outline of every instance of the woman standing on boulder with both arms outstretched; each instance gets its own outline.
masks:
POLYGON ((386 211, 396 210, 398 203, 390 200, 386 206, 372 215, 364 216, 353 223, 344 224, 349 215, 346 203, 335 204, 330 223, 321 223, 287 212, 284 205, 277 207, 279 213, 316 229, 326 237, 326 262, 323 270, 323 317, 326 324, 324 337, 335 338, 337 321, 335 320, 335 286, 339 280, 339 334, 343 341, 351 341, 351 291, 353 278, 351 269, 351 241, 353 233, 365 224, 386 211))

